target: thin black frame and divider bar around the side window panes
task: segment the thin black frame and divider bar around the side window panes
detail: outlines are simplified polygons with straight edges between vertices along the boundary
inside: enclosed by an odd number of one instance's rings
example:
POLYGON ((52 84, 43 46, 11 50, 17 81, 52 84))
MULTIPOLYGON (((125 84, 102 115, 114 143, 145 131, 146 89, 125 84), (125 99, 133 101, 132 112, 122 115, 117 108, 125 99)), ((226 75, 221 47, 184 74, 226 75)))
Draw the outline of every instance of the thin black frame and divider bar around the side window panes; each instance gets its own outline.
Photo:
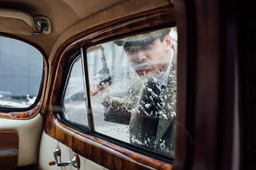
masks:
MULTIPOLYGON (((176 26, 175 25, 171 25, 169 27, 160 27, 160 28, 157 28, 157 29, 154 29, 154 30, 150 30, 150 31, 147 31, 147 32, 153 32, 153 31, 157 31, 157 30, 160 30, 160 29, 171 28, 171 27, 173 28, 173 27, 176 27, 176 26)), ((91 46, 99 45, 99 44, 102 44, 102 43, 105 43, 105 42, 111 42, 111 41, 116 40, 116 39, 122 39, 122 38, 125 38, 125 37, 129 37, 129 36, 133 36, 133 35, 137 35, 137 34, 143 34, 143 33, 145 33, 145 31, 143 31, 143 30, 136 31, 136 33, 130 32, 129 34, 126 34, 126 35, 122 35, 122 36, 118 36, 118 37, 113 36, 113 37, 110 37, 108 39, 104 39, 103 41, 99 41, 97 43, 93 43, 93 45, 87 45, 87 46, 80 47, 80 54, 79 54, 79 50, 77 50, 74 54, 81 55, 81 58, 84 59, 84 65, 82 65, 83 66, 83 70, 84 70, 83 74, 85 73, 85 75, 84 75, 84 77, 85 77, 84 82, 86 82, 86 87, 84 87, 84 88, 85 89, 89 89, 90 88, 89 87, 90 80, 89 80, 88 67, 86 67, 87 66, 87 52, 86 52, 87 48, 89 48, 91 46)), ((72 57, 70 57, 68 59, 67 63, 75 61, 73 55, 72 55, 72 57), (73 61, 71 61, 71 58, 73 59, 73 61)), ((70 70, 70 69, 72 69, 72 66, 70 67, 70 65, 67 64, 66 70, 70 70)), ((68 79, 68 77, 63 77, 62 82, 64 82, 64 81, 67 82, 68 81, 67 79, 68 79)), ((65 84, 65 83, 61 83, 61 85, 63 85, 63 84, 65 84)), ((63 108, 62 107, 62 103, 63 103, 63 96, 64 96, 64 92, 65 92, 65 91, 63 91, 63 88, 64 87, 61 88, 61 93, 63 94, 62 98, 61 98, 61 109, 63 108)), ((85 91, 85 93, 87 94, 87 99, 86 99, 87 100, 87 104, 88 104, 87 105, 87 109, 90 111, 91 110, 91 103, 90 103, 90 100, 88 100, 88 99, 90 99, 90 91, 85 91)), ((157 153, 157 152, 155 152, 153 150, 148 150, 148 149, 145 149, 143 147, 138 147, 138 146, 135 146, 133 144, 130 144, 130 143, 127 143, 127 142, 123 142, 123 141, 121 141, 119 139, 115 139, 113 137, 110 137, 110 136, 104 135, 102 133, 96 132, 95 129, 94 129, 94 123, 92 123, 93 122, 93 116, 92 116, 93 113, 92 112, 88 112, 87 113, 89 128, 87 128, 87 126, 85 126, 85 125, 81 125, 79 123, 76 123, 76 122, 73 122, 73 121, 70 121, 70 120, 66 119, 64 114, 65 113, 63 111, 61 111, 61 113, 59 113, 59 115, 61 117, 60 120, 64 124, 72 127, 73 129, 79 130, 82 133, 87 133, 89 135, 93 135, 93 136, 102 138, 102 139, 104 139, 104 140, 106 140, 108 142, 112 142, 114 144, 118 144, 119 146, 124 147, 126 149, 129 149, 129 150, 132 150, 132 151, 135 151, 135 152, 138 152, 138 153, 142 153, 143 155, 150 156, 152 158, 159 159, 159 160, 165 161, 167 163, 173 164, 174 158, 172 158, 171 156, 167 156, 167 155, 165 155, 163 153, 157 153), (88 129, 90 129, 90 130, 88 130, 88 129)))

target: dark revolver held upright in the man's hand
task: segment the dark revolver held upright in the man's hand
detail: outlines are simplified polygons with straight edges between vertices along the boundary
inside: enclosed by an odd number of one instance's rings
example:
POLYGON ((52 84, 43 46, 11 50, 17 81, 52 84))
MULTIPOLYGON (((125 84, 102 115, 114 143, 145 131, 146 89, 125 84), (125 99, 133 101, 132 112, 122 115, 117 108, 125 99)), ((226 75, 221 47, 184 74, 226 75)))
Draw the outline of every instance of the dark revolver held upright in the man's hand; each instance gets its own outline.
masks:
POLYGON ((111 75, 110 75, 110 71, 109 71, 109 68, 108 68, 108 64, 107 64, 107 61, 106 61, 106 57, 105 57, 105 52, 104 52, 104 47, 101 46, 101 51, 102 51, 102 70, 100 70, 98 72, 98 75, 99 75, 99 90, 102 90, 102 82, 105 82, 109 85, 112 84, 112 78, 111 78, 111 75))

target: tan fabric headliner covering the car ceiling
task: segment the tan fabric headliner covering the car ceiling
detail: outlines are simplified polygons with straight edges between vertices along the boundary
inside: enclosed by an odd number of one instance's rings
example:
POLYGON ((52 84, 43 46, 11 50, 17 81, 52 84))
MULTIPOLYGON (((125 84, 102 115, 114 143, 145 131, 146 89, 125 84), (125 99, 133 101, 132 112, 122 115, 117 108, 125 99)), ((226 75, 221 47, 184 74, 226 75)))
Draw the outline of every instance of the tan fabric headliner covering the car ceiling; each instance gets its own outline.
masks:
POLYGON ((79 32, 168 4, 169 0, 0 0, 1 8, 19 9, 33 16, 50 18, 51 34, 15 34, 40 45, 49 57, 50 65, 60 45, 79 32))

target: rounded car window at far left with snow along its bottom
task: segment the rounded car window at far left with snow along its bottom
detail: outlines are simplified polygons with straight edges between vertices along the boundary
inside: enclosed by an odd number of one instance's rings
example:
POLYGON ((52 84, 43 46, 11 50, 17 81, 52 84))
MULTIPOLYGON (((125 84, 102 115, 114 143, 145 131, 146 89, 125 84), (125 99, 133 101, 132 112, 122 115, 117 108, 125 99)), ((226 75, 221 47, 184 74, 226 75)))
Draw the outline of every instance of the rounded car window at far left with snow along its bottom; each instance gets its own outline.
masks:
POLYGON ((0 107, 29 108, 41 89, 44 58, 25 42, 0 36, 0 107))

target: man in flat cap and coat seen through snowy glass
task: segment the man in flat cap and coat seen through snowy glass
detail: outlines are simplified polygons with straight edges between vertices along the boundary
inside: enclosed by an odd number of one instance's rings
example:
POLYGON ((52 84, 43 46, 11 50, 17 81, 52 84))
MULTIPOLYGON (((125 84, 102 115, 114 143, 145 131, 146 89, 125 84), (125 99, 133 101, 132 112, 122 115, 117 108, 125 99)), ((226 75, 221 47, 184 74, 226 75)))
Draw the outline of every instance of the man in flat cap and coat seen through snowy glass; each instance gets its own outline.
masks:
MULTIPOLYGON (((176 117, 176 64, 177 49, 169 33, 171 28, 113 41, 123 46, 131 67, 141 79, 130 83, 126 97, 111 97, 107 83, 102 87, 109 97, 102 105, 108 120, 116 112, 128 116, 130 143, 159 153, 174 156, 176 117)), ((99 93, 99 85, 91 94, 99 93)))

